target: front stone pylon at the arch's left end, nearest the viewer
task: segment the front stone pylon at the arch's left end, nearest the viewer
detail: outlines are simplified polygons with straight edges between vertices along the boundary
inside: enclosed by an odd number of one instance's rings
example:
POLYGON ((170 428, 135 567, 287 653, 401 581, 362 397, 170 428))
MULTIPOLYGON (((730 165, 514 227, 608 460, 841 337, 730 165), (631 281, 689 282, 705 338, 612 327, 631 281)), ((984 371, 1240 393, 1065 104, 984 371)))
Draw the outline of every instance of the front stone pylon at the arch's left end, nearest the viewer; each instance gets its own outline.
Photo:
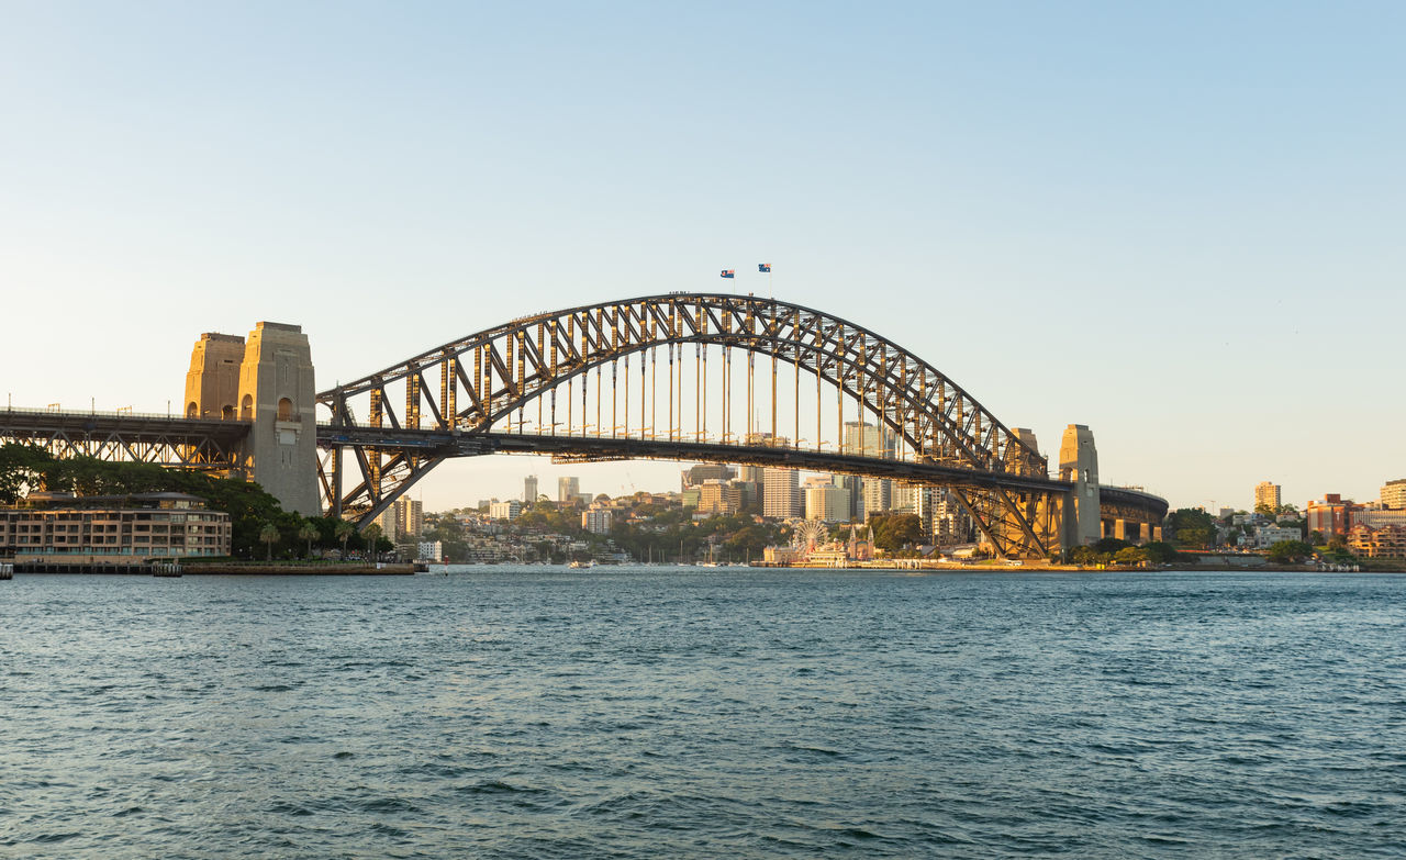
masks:
POLYGON ((318 422, 312 350, 302 326, 262 322, 245 340, 239 417, 250 478, 283 504, 318 516, 318 422))

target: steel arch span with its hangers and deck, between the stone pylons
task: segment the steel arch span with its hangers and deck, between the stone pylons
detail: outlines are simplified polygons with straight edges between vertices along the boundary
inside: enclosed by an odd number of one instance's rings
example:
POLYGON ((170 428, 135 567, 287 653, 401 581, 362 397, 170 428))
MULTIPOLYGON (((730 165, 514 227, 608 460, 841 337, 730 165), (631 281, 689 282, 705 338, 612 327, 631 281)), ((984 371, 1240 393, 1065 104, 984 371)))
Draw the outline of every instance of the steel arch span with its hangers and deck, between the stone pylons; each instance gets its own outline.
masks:
POLYGON ((668 294, 526 316, 318 400, 330 412, 323 496, 363 523, 446 458, 505 451, 891 476, 946 489, 1002 555, 1060 544, 1069 485, 1017 433, 872 330, 770 298, 668 294), (853 422, 882 431, 846 437, 853 422))

